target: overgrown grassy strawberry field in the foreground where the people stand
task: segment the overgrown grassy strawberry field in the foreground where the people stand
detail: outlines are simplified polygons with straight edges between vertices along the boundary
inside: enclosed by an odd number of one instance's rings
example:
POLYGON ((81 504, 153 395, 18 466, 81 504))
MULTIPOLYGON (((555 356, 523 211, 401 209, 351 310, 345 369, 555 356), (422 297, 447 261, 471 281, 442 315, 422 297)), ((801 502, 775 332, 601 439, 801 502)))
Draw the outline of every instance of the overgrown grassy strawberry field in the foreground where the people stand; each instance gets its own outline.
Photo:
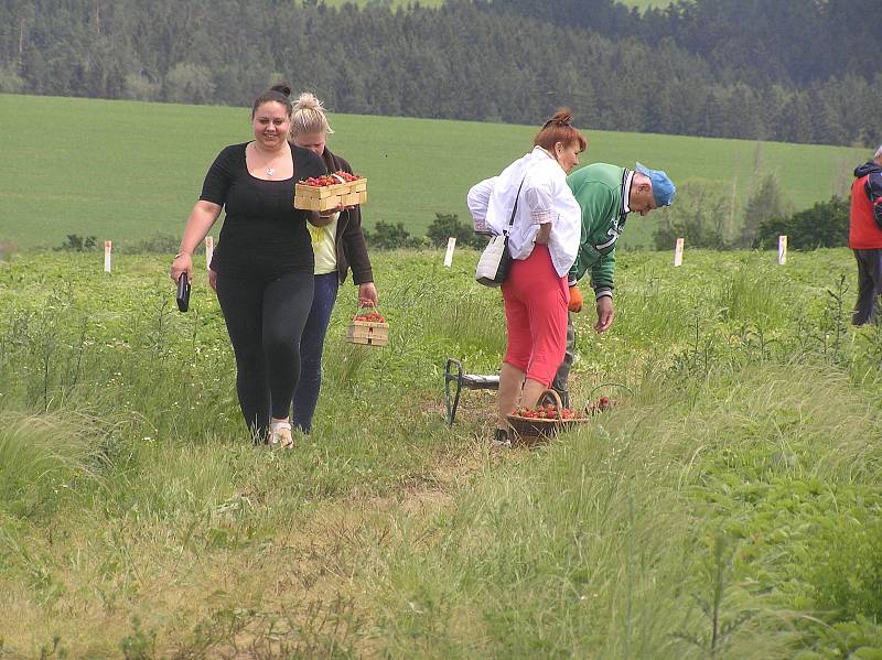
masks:
POLYGON ((621 404, 534 451, 488 446, 492 392, 442 421, 444 358, 504 336, 476 252, 441 260, 376 256, 386 348, 343 340, 345 288, 287 452, 245 436, 204 271, 182 315, 161 257, 0 264, 0 658, 880 657, 848 250, 623 253, 571 379, 621 404))

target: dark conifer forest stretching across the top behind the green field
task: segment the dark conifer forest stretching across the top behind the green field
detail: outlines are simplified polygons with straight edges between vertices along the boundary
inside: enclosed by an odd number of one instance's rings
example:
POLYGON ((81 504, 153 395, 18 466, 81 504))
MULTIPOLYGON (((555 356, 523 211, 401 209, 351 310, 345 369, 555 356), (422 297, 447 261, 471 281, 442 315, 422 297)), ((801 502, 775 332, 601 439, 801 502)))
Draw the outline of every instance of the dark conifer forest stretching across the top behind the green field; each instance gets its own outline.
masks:
POLYGON ((882 21, 851 0, 0 0, 0 91, 789 142, 882 139, 882 21))

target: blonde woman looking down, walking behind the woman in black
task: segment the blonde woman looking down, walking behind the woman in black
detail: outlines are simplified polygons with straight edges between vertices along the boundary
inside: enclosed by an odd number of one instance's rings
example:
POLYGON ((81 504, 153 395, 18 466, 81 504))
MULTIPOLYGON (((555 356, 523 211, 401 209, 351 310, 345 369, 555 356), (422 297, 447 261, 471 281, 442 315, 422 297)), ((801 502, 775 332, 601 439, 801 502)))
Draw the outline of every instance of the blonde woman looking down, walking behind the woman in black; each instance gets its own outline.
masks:
MULTIPOLYGON (((322 101, 310 93, 301 94, 293 105, 290 141, 295 147, 309 149, 319 155, 329 172, 343 170, 354 174, 345 159, 327 149, 327 136, 333 132, 322 101)), ((322 385, 325 332, 337 289, 346 281, 349 269, 353 281, 358 286, 358 304, 376 306, 378 302, 362 231, 361 207, 341 207, 332 215, 330 224, 308 228, 315 255, 315 294, 300 339, 300 381, 294 390, 292 416, 294 426, 303 433, 312 430, 312 418, 322 385)))

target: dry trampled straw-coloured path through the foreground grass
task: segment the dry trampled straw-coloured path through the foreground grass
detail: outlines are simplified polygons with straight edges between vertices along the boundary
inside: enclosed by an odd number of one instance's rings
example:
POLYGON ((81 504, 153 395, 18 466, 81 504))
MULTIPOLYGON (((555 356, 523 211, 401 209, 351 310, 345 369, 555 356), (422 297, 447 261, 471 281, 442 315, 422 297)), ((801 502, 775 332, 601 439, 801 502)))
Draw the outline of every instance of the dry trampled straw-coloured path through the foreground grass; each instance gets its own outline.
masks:
POLYGON ((243 596, 254 606, 218 609, 203 626, 202 649, 178 648, 176 654, 321 658, 345 649, 359 657, 380 654, 370 630, 383 616, 376 596, 388 577, 386 558, 402 543, 418 552, 431 542, 405 537, 453 507, 456 490, 497 459, 482 440, 448 443, 428 470, 394 493, 321 505, 302 527, 278 533, 258 565, 243 553, 230 556, 225 573, 247 584, 243 596))

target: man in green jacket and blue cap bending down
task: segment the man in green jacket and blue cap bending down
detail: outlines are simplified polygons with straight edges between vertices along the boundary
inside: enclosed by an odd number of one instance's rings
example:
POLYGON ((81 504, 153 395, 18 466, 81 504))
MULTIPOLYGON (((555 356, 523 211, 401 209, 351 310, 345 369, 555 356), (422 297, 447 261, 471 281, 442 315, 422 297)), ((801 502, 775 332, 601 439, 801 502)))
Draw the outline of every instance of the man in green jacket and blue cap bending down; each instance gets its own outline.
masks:
MULTIPOLYGON (((570 312, 582 311, 582 293, 578 282, 591 271, 598 322, 594 329, 610 329, 615 316, 613 307, 613 274, 615 271, 615 242, 625 228, 627 214, 642 216, 669 206, 676 188, 665 172, 650 170, 637 163, 634 170, 606 163, 594 163, 577 170, 567 177, 576 201, 582 208, 582 236, 576 263, 570 269, 570 312)), ((567 327, 567 354, 551 387, 569 405, 567 382, 573 360, 576 333, 572 314, 567 327)))

